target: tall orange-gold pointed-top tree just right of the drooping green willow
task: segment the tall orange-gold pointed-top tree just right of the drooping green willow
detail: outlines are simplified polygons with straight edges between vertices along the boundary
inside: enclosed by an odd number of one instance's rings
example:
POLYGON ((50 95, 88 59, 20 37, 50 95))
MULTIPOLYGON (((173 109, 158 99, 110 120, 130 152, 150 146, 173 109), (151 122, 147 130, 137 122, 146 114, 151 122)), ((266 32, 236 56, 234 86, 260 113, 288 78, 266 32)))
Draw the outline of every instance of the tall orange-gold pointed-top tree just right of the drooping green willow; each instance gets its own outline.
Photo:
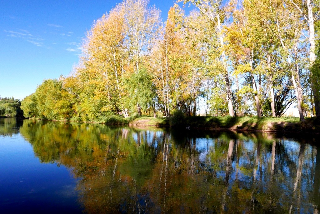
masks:
POLYGON ((204 75, 204 46, 198 12, 185 16, 175 4, 168 12, 168 19, 152 50, 152 69, 161 106, 166 116, 170 108, 180 109, 187 115, 196 115, 197 100, 202 94, 204 75), (169 99, 172 100, 169 105, 169 99))

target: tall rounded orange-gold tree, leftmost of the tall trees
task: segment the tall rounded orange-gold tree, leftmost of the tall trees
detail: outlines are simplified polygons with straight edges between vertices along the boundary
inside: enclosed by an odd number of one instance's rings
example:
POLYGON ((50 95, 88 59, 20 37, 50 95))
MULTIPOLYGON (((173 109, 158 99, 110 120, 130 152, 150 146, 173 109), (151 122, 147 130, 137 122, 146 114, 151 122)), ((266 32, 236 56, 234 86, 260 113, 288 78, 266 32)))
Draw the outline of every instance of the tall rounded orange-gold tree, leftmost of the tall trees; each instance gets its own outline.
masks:
POLYGON ((124 47, 127 29, 124 7, 121 5, 95 21, 92 29, 87 32, 83 45, 84 55, 80 58, 76 74, 85 84, 84 90, 95 86, 92 92, 89 90, 89 93, 84 94, 93 97, 89 96, 85 100, 104 100, 102 111, 121 111, 125 116, 129 114, 123 107, 122 97, 125 92, 121 76, 125 72, 128 56, 124 47))

